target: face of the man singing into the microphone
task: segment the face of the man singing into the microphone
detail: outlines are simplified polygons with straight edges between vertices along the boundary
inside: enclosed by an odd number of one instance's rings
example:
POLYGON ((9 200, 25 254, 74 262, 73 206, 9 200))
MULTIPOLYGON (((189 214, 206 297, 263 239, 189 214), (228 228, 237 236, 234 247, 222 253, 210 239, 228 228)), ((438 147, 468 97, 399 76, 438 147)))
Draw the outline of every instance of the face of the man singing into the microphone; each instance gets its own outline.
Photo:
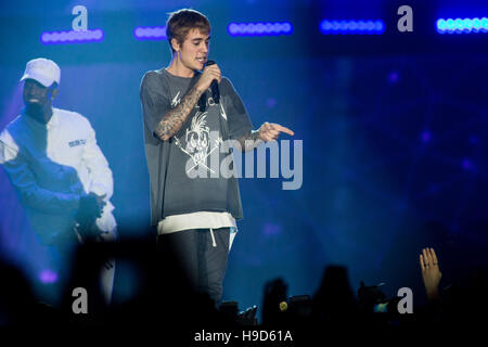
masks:
POLYGON ((210 36, 192 29, 188 33, 183 43, 179 46, 179 57, 182 65, 191 70, 203 69, 208 57, 210 36))

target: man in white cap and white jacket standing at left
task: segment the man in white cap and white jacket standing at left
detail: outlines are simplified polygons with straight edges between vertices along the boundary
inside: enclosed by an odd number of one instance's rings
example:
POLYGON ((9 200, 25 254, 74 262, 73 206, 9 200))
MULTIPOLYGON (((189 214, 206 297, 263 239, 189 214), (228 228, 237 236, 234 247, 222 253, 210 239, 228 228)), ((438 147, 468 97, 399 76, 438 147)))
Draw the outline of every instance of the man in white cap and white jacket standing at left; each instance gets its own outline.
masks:
MULTIPOLYGON (((115 241, 117 232, 110 202, 112 171, 93 128, 80 114, 52 106, 60 78, 60 67, 51 60, 27 63, 21 79, 25 108, 0 133, 0 164, 41 244, 49 247, 62 292, 77 246, 115 241)), ((101 269, 101 292, 107 304, 114 271, 114 260, 101 269)))

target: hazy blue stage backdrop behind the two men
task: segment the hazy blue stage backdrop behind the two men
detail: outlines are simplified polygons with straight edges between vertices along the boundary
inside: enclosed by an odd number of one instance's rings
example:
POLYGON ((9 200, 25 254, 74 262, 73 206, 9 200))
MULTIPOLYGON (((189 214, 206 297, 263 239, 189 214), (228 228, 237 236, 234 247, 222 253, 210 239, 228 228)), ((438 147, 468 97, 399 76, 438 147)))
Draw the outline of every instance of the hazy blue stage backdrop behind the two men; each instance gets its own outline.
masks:
MULTIPOLYGON (((166 41, 138 41, 136 26, 163 26, 192 7, 213 25, 210 57, 243 99, 254 126, 279 123, 304 143, 303 187, 240 180, 244 220, 230 253, 224 299, 260 305, 266 281, 312 295, 324 266, 348 267, 354 290, 385 282, 422 300, 418 257, 436 248, 445 279, 486 264, 488 34, 440 36, 438 17, 487 16, 483 1, 412 1, 414 33, 396 30, 396 1, 15 1, 0 5, 0 128, 22 110, 25 63, 44 56, 62 70, 54 106, 81 113, 114 172, 123 237, 150 223, 139 85, 168 65, 166 41), (97 43, 44 46, 43 31, 69 30, 88 9, 97 43), (377 20, 382 36, 323 36, 323 18, 377 20), (283 22, 291 36, 231 37, 230 22, 283 22), (461 270, 462 272, 462 270, 461 270)), ((283 139, 287 139, 284 137, 283 139)), ((40 292, 48 255, 0 169, 0 249, 40 292)), ((133 277, 124 267, 114 293, 133 277)), ((132 279, 132 280, 131 280, 132 279)), ((130 294, 130 293, 129 293, 130 294)))

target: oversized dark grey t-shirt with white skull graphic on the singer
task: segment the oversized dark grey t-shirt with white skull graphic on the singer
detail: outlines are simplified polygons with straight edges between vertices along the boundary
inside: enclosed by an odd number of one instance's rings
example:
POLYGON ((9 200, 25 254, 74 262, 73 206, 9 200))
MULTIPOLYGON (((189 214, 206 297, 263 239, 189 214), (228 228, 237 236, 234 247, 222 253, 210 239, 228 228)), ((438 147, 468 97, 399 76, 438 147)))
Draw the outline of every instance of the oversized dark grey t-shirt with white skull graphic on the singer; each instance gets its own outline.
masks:
POLYGON ((196 211, 243 217, 237 179, 222 175, 220 167, 223 163, 222 167, 232 168, 226 141, 242 137, 253 125, 229 79, 223 77, 219 83, 220 102, 215 103, 207 90, 205 106, 197 103, 171 139, 162 141, 154 133, 163 116, 179 104, 197 78, 198 73, 183 78, 158 69, 147 72, 141 81, 153 226, 167 216, 196 211))

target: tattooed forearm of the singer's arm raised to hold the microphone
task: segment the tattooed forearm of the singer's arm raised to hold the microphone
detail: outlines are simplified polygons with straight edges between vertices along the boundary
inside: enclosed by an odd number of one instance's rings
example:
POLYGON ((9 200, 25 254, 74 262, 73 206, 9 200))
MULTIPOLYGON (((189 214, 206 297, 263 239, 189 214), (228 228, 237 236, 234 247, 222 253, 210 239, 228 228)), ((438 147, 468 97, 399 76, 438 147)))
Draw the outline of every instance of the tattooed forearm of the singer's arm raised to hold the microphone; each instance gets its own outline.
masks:
POLYGON ((169 140, 178 130, 181 129, 184 120, 195 107, 196 102, 202 95, 202 91, 193 87, 181 102, 175 108, 168 111, 159 124, 154 129, 154 132, 163 141, 169 140))

